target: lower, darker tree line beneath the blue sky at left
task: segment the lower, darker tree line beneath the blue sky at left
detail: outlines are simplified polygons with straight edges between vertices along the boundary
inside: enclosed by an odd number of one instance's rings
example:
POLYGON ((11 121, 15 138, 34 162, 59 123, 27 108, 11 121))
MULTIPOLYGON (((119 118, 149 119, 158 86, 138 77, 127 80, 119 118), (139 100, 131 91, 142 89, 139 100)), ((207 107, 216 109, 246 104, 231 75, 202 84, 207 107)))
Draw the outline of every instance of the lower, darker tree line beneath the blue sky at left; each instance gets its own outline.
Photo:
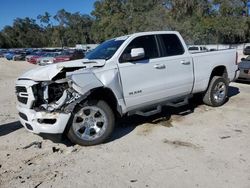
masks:
POLYGON ((0 32, 0 48, 60 47, 93 42, 90 38, 93 18, 89 15, 62 9, 54 16, 45 12, 37 19, 40 25, 34 19, 17 18, 13 26, 4 27, 0 32))

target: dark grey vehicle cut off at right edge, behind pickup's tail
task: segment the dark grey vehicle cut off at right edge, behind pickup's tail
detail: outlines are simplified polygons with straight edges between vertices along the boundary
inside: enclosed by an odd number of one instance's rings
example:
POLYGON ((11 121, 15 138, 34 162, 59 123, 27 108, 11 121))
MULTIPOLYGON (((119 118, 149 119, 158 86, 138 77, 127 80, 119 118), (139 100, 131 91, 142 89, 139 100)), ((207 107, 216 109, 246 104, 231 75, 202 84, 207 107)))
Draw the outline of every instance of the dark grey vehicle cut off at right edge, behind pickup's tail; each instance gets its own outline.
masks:
POLYGON ((239 63, 240 75, 238 80, 249 80, 250 81, 250 56, 242 58, 239 63))

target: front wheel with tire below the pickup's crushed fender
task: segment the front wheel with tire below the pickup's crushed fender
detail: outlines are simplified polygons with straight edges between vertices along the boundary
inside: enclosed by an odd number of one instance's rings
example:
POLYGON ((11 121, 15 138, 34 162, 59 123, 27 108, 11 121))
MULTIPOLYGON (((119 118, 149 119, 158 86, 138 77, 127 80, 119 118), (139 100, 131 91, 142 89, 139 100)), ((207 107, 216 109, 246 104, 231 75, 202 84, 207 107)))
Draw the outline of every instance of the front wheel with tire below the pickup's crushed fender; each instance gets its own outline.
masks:
POLYGON ((105 101, 86 101, 76 109, 68 131, 71 142, 92 146, 105 142, 112 134, 115 117, 105 101))

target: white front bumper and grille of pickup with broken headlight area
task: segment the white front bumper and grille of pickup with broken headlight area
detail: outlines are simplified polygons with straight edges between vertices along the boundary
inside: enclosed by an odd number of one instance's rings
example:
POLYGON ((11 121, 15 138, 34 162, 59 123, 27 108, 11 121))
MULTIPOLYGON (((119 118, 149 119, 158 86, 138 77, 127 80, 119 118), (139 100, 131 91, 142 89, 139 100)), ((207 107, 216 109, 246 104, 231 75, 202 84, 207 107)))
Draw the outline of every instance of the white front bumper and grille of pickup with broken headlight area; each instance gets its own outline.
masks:
MULTIPOLYGON (((82 100, 82 97, 75 96, 76 94, 67 97, 65 90, 57 101, 50 104, 39 103, 38 105, 38 101, 42 99, 38 98, 35 88, 39 84, 39 82, 31 80, 18 80, 16 82, 16 108, 20 122, 28 131, 36 134, 61 134, 69 122, 74 106, 82 100), (63 110, 61 109, 62 106, 64 107, 63 110)), ((46 89, 44 90, 46 91, 46 89)), ((46 98, 46 94, 43 97, 46 98)))

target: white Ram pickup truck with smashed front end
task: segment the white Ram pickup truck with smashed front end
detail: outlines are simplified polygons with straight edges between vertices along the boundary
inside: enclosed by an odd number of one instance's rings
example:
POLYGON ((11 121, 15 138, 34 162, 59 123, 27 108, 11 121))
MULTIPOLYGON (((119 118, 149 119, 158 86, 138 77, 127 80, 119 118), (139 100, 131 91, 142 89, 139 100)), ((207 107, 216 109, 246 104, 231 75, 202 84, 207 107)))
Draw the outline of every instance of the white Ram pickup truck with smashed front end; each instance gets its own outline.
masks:
POLYGON ((86 59, 26 72, 16 82, 17 109, 33 133, 95 145, 111 135, 115 118, 149 116, 195 93, 221 106, 238 75, 235 49, 190 54, 178 32, 135 33, 102 43, 86 59))

